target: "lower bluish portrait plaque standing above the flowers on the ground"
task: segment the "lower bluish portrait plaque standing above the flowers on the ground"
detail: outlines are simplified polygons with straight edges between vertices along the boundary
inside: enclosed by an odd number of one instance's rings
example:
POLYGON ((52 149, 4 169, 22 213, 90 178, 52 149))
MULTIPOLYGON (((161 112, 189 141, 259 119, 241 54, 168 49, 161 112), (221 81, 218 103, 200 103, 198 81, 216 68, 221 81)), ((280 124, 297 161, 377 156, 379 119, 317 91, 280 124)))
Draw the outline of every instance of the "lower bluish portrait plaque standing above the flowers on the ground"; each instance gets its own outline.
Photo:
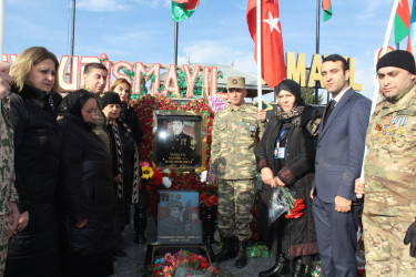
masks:
POLYGON ((159 244, 201 244, 200 193, 160 191, 158 206, 159 244))

